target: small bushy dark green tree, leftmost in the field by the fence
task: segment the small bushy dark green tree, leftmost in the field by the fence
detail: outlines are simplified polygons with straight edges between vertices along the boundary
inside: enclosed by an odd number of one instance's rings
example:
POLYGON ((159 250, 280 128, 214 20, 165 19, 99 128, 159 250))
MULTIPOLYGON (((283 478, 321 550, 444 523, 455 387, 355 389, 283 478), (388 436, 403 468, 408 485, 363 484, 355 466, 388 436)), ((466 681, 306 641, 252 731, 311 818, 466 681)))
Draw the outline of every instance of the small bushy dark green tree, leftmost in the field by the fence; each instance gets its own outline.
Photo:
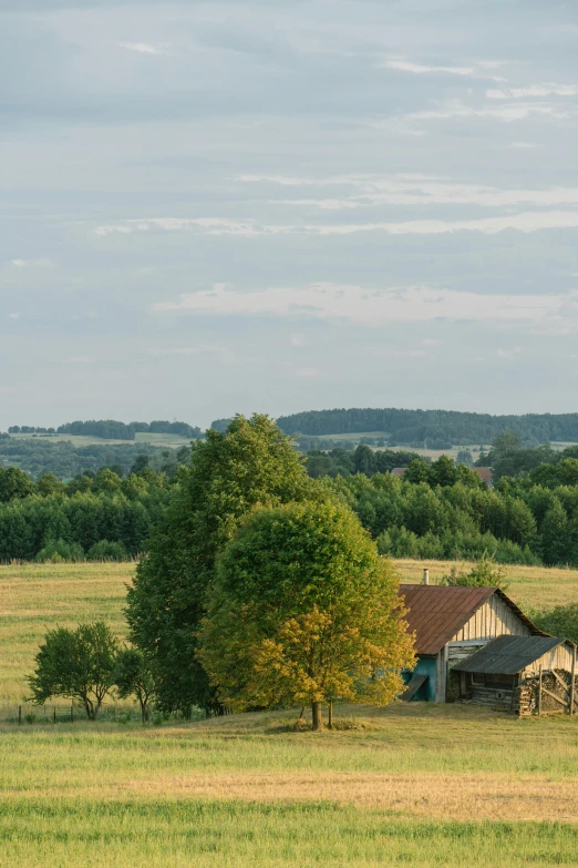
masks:
POLYGON ((33 702, 43 705, 53 696, 79 699, 89 721, 95 721, 114 684, 117 653, 118 643, 102 621, 76 630, 50 630, 34 658, 37 668, 28 677, 33 702))

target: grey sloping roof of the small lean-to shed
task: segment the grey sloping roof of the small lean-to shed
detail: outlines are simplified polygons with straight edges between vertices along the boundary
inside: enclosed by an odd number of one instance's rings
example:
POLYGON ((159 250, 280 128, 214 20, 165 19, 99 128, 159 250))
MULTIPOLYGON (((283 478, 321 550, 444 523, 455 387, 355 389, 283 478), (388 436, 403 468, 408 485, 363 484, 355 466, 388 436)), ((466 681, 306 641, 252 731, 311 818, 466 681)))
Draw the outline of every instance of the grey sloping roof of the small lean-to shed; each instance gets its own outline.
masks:
MULTIPOLYGON (((564 639, 553 636, 496 636, 467 660, 453 668, 456 672, 483 672, 488 675, 516 675, 548 651, 562 645, 564 639)), ((571 647, 571 643, 567 643, 571 647)))

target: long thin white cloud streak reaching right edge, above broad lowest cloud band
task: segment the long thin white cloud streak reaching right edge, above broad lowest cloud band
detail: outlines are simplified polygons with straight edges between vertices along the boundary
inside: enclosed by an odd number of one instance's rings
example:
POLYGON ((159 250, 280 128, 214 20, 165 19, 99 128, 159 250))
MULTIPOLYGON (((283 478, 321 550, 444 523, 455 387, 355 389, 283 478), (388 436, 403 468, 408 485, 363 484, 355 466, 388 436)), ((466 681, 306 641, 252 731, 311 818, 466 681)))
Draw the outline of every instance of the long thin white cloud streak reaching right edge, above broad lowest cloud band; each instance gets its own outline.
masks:
POLYGON ((96 235, 135 232, 196 232, 207 235, 238 235, 259 237, 272 235, 354 235, 364 232, 384 232, 389 235, 445 235, 456 232, 479 232, 496 235, 507 229, 533 233, 541 229, 578 228, 578 211, 527 211, 519 214, 505 214, 497 217, 474 219, 416 219, 400 223, 349 223, 349 224, 295 224, 268 225, 257 221, 231 221, 219 217, 155 217, 153 219, 133 219, 124 224, 99 226, 96 235))

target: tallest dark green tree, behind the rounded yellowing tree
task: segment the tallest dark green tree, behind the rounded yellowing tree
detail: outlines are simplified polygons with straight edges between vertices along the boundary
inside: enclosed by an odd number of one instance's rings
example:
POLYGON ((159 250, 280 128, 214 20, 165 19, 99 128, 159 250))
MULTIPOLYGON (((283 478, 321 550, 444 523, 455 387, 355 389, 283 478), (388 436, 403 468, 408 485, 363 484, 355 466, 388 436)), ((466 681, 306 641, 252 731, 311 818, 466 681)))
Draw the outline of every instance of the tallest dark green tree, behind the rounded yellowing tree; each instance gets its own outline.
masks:
POLYGON ((193 447, 127 598, 131 640, 154 660, 161 707, 218 707, 195 657, 215 558, 255 507, 303 500, 313 487, 290 438, 267 416, 236 416, 226 432, 211 429, 193 447))

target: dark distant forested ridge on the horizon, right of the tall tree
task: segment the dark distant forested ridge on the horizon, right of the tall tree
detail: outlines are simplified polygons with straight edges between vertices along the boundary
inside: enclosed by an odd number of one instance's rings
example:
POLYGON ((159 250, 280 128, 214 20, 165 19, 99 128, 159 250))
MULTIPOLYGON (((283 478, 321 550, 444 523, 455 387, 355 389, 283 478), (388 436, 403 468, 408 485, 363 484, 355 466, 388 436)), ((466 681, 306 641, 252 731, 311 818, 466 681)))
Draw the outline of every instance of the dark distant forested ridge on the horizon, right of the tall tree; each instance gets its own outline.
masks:
POLYGON ((491 443, 504 430, 531 446, 549 441, 578 442, 578 413, 489 416, 454 410, 350 409, 309 410, 281 416, 288 435, 327 437, 383 431, 389 446, 446 449, 452 445, 491 443))

